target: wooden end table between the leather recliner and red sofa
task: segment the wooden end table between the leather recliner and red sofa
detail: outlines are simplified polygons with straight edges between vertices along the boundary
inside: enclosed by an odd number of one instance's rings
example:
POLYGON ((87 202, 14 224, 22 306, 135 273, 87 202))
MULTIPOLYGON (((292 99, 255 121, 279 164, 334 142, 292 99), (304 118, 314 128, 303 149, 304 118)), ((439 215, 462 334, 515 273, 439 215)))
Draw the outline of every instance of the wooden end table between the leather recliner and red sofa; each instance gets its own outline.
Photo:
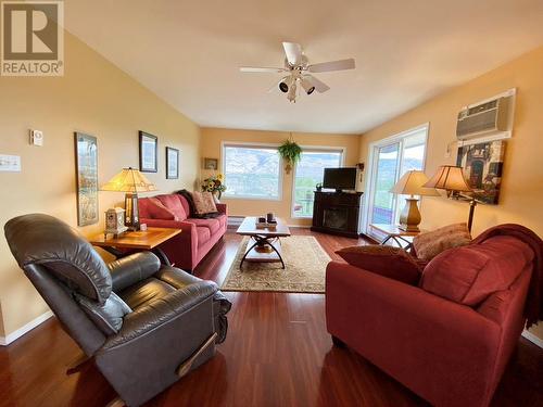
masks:
POLYGON ((100 233, 90 239, 90 244, 102 247, 117 258, 134 253, 134 251, 151 251, 159 256, 162 264, 171 266, 169 259, 159 245, 180 232, 181 229, 148 228, 147 230, 127 231, 110 239, 104 233, 100 233))

